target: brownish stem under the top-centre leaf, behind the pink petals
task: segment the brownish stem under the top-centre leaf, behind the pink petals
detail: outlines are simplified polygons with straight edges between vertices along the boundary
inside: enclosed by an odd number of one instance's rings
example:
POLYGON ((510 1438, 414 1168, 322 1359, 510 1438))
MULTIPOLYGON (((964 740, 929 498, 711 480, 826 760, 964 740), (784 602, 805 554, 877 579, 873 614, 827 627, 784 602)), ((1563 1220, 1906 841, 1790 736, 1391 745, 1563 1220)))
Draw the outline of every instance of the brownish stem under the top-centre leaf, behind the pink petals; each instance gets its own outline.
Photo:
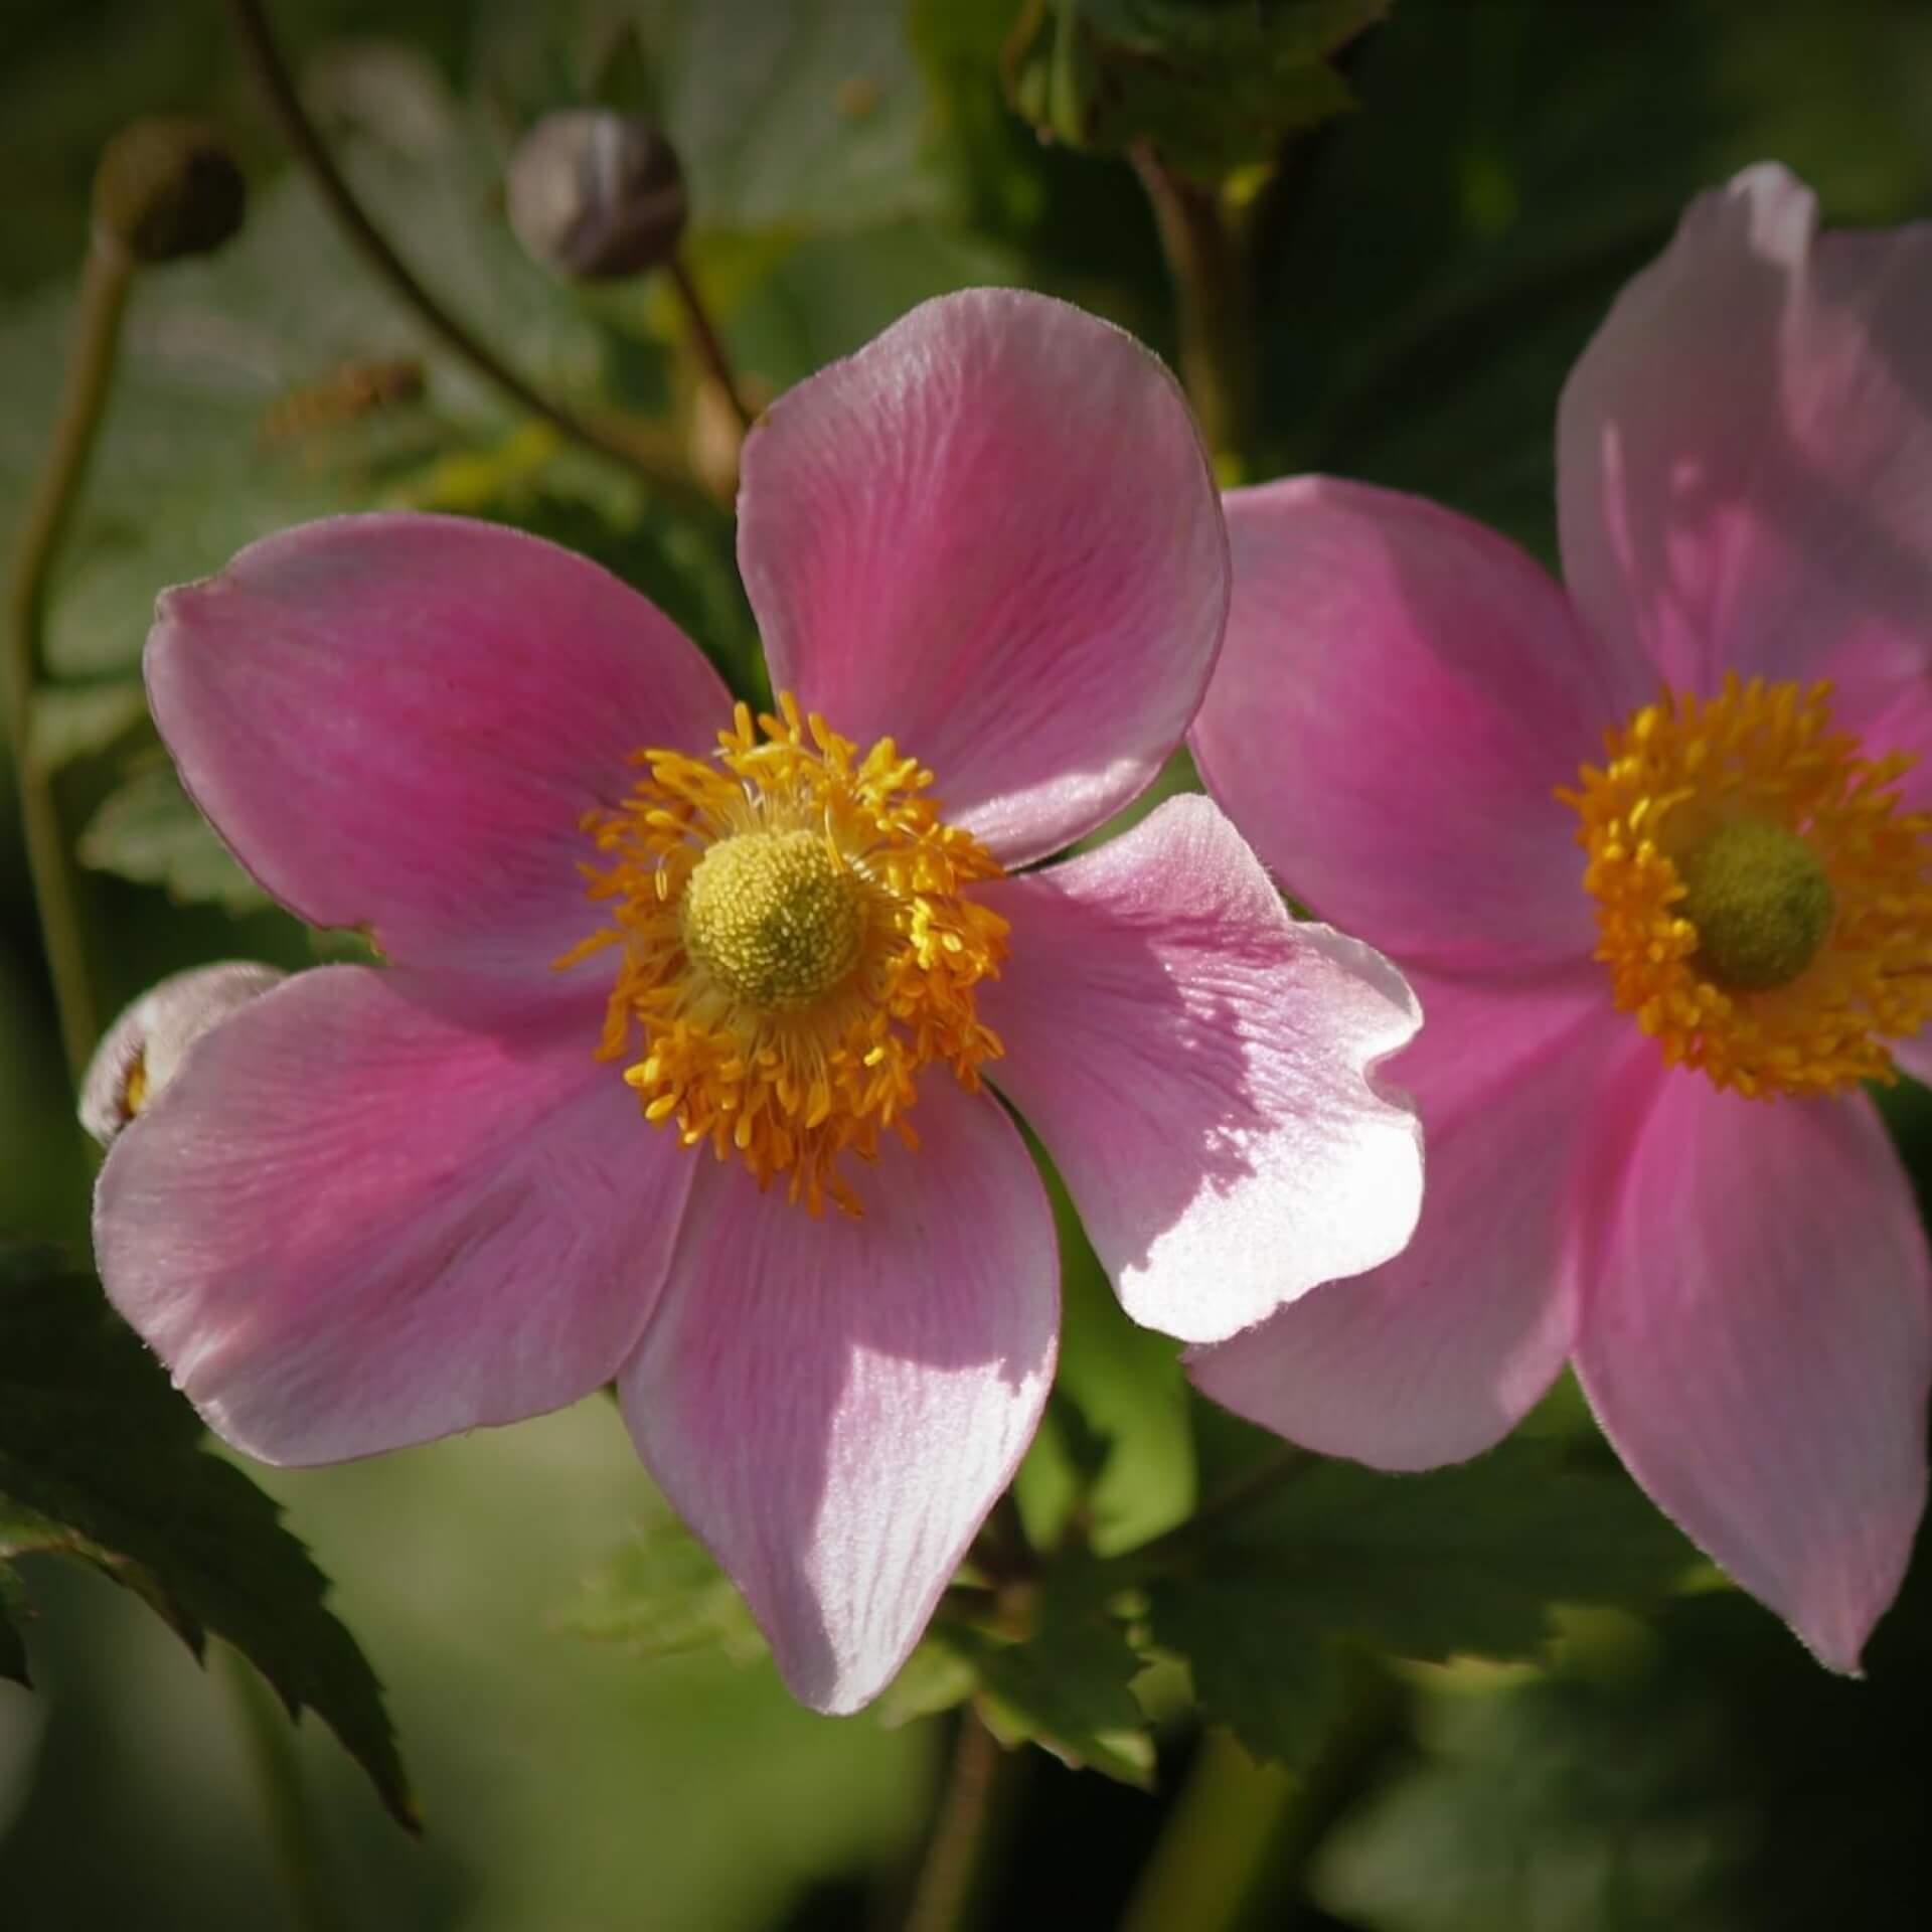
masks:
POLYGON ((1254 433, 1258 350, 1246 251, 1219 195, 1182 180, 1140 143, 1132 151, 1180 311, 1180 386, 1217 468, 1238 475, 1254 433))

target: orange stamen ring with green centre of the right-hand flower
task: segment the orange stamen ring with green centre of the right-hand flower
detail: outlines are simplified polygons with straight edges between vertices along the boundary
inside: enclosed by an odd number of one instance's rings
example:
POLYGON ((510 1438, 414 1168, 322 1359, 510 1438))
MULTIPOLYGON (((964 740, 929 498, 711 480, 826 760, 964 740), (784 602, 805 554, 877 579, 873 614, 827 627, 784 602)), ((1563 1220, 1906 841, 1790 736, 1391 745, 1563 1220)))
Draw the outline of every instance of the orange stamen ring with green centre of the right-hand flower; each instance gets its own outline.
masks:
POLYGON ((1830 699, 1665 694, 1557 792, 1617 1007, 1750 1097, 1895 1080, 1884 1041, 1932 1016, 1932 817, 1899 810, 1913 759, 1861 755, 1830 699))

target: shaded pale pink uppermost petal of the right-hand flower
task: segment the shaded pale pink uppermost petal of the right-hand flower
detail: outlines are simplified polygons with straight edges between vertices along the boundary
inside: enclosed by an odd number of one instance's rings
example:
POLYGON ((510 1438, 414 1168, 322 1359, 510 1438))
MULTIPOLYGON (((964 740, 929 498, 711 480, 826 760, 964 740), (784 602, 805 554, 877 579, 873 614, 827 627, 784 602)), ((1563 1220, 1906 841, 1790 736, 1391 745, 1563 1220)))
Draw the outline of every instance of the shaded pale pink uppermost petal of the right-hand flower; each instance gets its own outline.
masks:
POLYGON ((1932 226, 1816 222, 1750 168, 1617 298, 1563 390, 1563 564, 1675 686, 1830 676, 1868 711, 1932 659, 1932 226))

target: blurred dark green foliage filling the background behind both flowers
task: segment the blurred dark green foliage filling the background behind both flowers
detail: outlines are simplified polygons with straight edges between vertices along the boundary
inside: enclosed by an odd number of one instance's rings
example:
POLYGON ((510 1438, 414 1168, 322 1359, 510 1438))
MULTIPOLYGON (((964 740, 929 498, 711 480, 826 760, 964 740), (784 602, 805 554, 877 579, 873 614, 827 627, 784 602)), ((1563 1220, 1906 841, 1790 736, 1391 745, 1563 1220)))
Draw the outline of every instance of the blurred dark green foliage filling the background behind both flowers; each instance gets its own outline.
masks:
MULTIPOLYGON (((974 282, 1068 296, 1184 361, 1202 319, 1177 309, 1122 158, 1157 137, 1242 209, 1252 394, 1231 471, 1422 491, 1544 556, 1563 371, 1690 193, 1774 155, 1839 222, 1932 205, 1932 15, 1903 0, 284 0, 274 15, 359 193, 439 296, 549 394, 659 439, 713 495, 667 497, 564 444, 425 338, 286 166, 218 8, 15 0, 0 527, 46 442, 102 139, 137 112, 205 112, 251 178, 236 243, 137 292, 56 583, 60 690, 35 728, 95 869, 114 1001, 201 958, 317 956, 187 808, 135 682, 155 589, 253 535, 373 504, 518 522, 609 562, 757 684, 728 452, 674 305, 655 280, 568 290, 504 226, 506 155, 551 106, 663 118, 692 184, 692 269, 755 396, 974 282), (419 383, 330 408, 330 381, 369 363, 419 383)), ((87 1165, 10 811, 0 1229, 79 1248, 87 1165)), ((1888 1105, 1924 1186, 1924 1097, 1888 1105)), ((0 1669, 31 1669, 41 1694, 0 1685, 0 1922, 280 1922, 245 1747, 178 1642, 209 1631, 375 1777, 301 1725, 354 1926, 866 1922, 902 1895, 923 1832, 951 1721, 925 1719, 966 1698, 1001 1737, 1047 1747, 1022 1760, 989 1922, 1111 1926, 1126 1909, 1148 1932, 1208 1922, 1217 1886, 1229 1926, 1926 1922, 1924 1561, 1872 1644, 1876 1689, 1830 1679, 1689 1561, 1567 1389, 1470 1468, 1391 1482, 1310 1463, 1264 1507, 1223 1509, 1277 1451, 1190 1403, 1171 1347, 1115 1312, 1065 1204, 1063 1240, 1063 1376, 1012 1534, 1065 1555, 1022 1625, 945 1613, 887 1723, 784 1698, 609 1405, 379 1464, 251 1470, 265 1495, 197 1441, 139 1350, 97 1335, 89 1283, 15 1254, 0 1669), (116 1488, 126 1455, 89 1461, 114 1432, 139 1437, 155 1490, 116 1488), (156 1528, 162 1497, 216 1524, 213 1569, 187 1559, 182 1522, 156 1528), (230 1536, 255 1540, 259 1602, 234 1596, 230 1536), (298 1536, 336 1578, 327 1607, 298 1536), (1561 1607, 1577 1602, 1592 1607, 1561 1607), (386 1716, 344 1625, 390 1687, 386 1716), (1177 1658, 1208 1718, 1285 1770, 1254 1770, 1219 1729, 1202 1741, 1177 1658), (383 1810, 408 1812, 410 1791, 421 1845, 383 1810)))

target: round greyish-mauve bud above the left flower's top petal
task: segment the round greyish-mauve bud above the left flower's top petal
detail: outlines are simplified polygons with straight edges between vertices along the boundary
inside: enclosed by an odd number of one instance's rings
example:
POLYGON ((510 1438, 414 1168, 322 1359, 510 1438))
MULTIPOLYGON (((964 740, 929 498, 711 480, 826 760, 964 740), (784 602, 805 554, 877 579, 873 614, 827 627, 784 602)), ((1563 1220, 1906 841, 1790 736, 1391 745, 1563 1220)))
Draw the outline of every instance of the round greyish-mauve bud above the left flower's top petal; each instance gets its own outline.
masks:
POLYGON ((545 114, 510 156, 510 226, 531 259, 614 282, 670 259, 684 234, 684 170, 649 122, 603 108, 545 114))

